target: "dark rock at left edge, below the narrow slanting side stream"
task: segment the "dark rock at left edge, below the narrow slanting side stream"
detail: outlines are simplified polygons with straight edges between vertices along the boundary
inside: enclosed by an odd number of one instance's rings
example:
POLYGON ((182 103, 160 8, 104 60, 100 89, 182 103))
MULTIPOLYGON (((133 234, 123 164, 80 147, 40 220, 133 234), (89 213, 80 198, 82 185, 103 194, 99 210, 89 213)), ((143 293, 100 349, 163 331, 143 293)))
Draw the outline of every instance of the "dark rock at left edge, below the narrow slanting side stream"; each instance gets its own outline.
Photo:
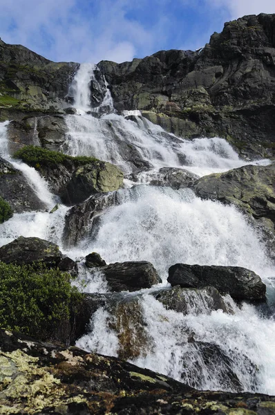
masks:
POLYGON ((16 213, 45 210, 27 179, 19 170, 0 157, 0 196, 8 201, 16 213))

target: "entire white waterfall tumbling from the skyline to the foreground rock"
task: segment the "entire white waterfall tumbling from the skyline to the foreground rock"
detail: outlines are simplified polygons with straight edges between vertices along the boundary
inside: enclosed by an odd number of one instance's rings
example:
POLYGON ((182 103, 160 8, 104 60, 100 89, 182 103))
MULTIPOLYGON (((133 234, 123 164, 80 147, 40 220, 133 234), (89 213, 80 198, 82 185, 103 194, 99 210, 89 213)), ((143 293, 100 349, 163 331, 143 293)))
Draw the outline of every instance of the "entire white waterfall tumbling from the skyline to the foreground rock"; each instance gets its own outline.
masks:
MULTIPOLYGON (((161 288, 167 286, 169 266, 177 262, 243 266, 260 275, 272 295, 275 270, 260 235, 243 214, 233 206, 202 201, 191 190, 149 185, 162 167, 181 167, 204 176, 252 162, 241 160, 221 138, 184 140, 166 133, 138 112, 124 114, 131 119, 118 115, 113 110, 105 80, 102 81, 104 99, 91 109, 88 84, 93 80, 101 87, 95 79, 95 70, 95 65, 83 64, 75 75, 71 88, 77 114, 66 116, 68 133, 63 151, 73 156, 93 155, 118 165, 127 177, 125 188, 117 192, 119 203, 102 214, 96 234, 88 232, 88 236, 73 248, 66 250, 62 240, 68 212, 64 205, 52 214, 15 214, 0 225, 0 244, 19 235, 37 236, 58 243, 73 259, 83 259, 95 251, 107 263, 151 261, 162 277, 161 288), (92 113, 87 114, 87 111, 92 113), (135 160, 144 163, 146 169, 140 172, 133 163, 133 156, 129 158, 129 151, 132 155, 134 151, 135 160), (135 174, 135 183, 131 174, 135 174)), ((2 123, 0 127, 1 157, 23 173, 50 210, 57 199, 48 191, 44 179, 35 169, 8 155, 6 126, 7 123, 2 123)), ((266 165, 269 162, 254 163, 266 165)), ((79 269, 82 277, 87 278, 86 291, 106 292, 108 288, 100 272, 90 275, 82 265, 79 269)), ((209 311, 200 297, 195 297, 189 313, 183 315, 167 311, 149 292, 142 290, 138 297, 149 346, 133 360, 136 365, 172 376, 198 389, 234 391, 232 378, 237 378, 245 391, 275 394, 275 322, 272 317, 260 315, 253 305, 237 306, 229 296, 225 297, 225 302, 232 313, 209 311), (216 347, 214 352, 211 345, 216 347), (206 355, 209 356, 207 362, 206 355), (229 371, 231 379, 227 378, 229 371)), ((109 324, 112 318, 107 310, 99 308, 91 321, 91 333, 80 338, 77 346, 117 356, 119 339, 109 324)))

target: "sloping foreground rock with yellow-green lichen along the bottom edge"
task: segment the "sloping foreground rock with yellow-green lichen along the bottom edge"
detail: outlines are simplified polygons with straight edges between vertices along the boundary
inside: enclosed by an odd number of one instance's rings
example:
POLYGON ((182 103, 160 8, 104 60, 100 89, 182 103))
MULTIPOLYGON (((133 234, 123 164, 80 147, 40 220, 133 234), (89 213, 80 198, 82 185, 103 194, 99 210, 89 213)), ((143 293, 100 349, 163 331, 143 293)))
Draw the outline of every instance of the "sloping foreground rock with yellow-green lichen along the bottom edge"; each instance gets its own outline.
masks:
POLYGON ((0 330, 1 414, 267 414, 275 398, 196 391, 117 358, 0 330))

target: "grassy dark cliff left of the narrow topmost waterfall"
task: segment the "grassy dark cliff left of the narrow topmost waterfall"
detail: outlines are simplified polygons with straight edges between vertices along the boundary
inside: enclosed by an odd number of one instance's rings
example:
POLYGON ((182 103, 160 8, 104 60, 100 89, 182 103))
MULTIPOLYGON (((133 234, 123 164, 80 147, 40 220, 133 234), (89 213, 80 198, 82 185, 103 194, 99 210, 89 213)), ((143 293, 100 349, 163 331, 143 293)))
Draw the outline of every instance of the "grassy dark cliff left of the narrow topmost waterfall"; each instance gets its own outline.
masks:
POLYGON ((51 62, 21 45, 0 39, 0 107, 7 110, 56 111, 64 107, 78 64, 51 62))

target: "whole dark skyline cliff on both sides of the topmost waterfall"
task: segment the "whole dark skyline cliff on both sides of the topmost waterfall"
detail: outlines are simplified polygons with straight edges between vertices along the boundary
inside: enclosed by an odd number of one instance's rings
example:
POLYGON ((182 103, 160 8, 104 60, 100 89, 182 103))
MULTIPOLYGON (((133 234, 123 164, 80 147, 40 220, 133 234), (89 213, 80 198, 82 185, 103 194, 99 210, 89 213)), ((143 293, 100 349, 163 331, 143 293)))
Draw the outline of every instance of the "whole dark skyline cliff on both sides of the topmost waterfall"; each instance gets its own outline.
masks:
MULTIPOLYGON (((275 15, 226 23, 196 52, 162 50, 98 66, 97 81, 106 77, 118 111, 140 109, 184 138, 221 136, 243 156, 274 155, 275 15)), ((77 68, 0 40, 0 119, 19 120, 18 111, 62 112, 72 102, 68 87, 77 68)), ((93 107, 95 82, 91 92, 93 107)))

